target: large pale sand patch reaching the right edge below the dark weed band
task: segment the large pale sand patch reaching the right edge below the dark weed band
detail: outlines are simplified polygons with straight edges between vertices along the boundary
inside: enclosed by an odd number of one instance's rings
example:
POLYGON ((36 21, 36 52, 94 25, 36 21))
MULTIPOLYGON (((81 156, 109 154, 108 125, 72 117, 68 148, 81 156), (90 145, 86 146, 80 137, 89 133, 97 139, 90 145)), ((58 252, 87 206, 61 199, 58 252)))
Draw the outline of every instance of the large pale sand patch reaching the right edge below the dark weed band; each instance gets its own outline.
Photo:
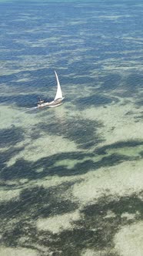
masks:
MULTIPOLYGON (((104 167, 85 174, 85 180, 73 186, 73 196, 82 204, 102 196, 122 197, 139 193, 143 184, 143 160, 104 167)), ((82 175, 82 178, 84 175, 82 175)))

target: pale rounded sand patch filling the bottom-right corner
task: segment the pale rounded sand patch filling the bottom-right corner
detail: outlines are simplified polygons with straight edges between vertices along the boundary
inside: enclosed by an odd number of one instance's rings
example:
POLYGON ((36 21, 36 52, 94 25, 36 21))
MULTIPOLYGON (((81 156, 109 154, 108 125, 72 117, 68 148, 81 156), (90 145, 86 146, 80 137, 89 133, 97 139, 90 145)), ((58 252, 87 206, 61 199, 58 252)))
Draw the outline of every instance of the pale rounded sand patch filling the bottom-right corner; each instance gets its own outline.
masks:
POLYGON ((115 251, 121 256, 143 255, 143 221, 121 227, 115 234, 115 251))

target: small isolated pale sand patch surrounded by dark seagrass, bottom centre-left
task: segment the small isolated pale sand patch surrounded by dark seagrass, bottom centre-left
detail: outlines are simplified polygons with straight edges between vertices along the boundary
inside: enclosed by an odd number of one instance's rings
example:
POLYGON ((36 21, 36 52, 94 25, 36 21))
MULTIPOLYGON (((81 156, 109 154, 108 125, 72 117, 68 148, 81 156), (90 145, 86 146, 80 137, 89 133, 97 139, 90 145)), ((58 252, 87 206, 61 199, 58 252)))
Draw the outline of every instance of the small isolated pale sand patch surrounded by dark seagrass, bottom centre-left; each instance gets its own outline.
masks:
POLYGON ((37 221, 37 228, 39 231, 50 231, 53 234, 58 234, 63 230, 73 228, 73 221, 78 221, 81 218, 79 211, 71 214, 62 214, 54 217, 40 218, 37 221))

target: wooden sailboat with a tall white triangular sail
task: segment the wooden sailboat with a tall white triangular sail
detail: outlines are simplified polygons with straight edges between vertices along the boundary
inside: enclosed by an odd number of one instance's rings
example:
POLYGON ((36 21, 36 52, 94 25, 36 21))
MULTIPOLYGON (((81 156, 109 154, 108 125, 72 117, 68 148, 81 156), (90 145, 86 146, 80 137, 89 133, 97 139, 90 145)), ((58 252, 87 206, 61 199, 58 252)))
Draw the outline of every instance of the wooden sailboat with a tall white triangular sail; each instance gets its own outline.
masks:
POLYGON ((62 89, 58 80, 58 75, 55 72, 55 77, 57 80, 57 92, 55 94, 55 99, 52 100, 51 102, 45 102, 44 100, 40 99, 38 101, 38 107, 44 107, 44 106, 48 106, 48 107, 55 107, 55 106, 60 106, 62 105, 62 100, 64 99, 64 97, 62 96, 62 89))

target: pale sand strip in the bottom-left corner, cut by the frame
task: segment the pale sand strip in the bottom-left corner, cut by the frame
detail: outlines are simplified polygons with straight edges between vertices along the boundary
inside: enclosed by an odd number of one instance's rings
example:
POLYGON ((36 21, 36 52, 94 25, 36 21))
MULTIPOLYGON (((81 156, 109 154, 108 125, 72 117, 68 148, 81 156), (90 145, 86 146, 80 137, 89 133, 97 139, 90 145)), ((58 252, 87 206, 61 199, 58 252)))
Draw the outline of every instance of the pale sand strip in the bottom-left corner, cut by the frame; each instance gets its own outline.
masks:
POLYGON ((38 256, 38 253, 32 249, 26 248, 0 248, 0 255, 2 256, 38 256))

